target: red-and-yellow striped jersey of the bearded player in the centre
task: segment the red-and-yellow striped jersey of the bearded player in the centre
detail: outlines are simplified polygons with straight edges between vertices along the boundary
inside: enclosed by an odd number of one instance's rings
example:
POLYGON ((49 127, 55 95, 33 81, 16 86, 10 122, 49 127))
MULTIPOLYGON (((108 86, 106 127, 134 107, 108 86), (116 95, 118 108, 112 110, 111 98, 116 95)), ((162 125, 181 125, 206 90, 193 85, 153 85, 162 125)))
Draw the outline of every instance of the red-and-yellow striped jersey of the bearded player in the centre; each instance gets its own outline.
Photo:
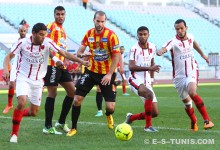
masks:
POLYGON ((118 37, 108 28, 104 28, 100 34, 95 34, 95 28, 88 30, 81 44, 88 46, 92 54, 89 57, 88 70, 99 74, 107 74, 112 64, 113 54, 120 53, 118 37))

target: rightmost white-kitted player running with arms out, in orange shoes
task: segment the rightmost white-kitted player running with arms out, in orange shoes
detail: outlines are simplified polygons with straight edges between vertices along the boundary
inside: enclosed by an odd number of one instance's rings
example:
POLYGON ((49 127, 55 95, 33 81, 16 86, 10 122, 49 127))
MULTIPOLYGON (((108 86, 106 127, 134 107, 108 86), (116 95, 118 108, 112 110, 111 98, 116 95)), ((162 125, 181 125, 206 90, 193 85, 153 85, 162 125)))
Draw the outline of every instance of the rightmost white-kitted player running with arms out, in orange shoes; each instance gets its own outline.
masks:
POLYGON ((192 34, 187 34, 188 27, 183 19, 178 19, 174 24, 176 36, 167 42, 162 49, 157 51, 161 56, 171 51, 173 65, 173 82, 175 88, 185 104, 185 110, 191 119, 191 130, 198 131, 197 119, 192 107, 192 100, 204 119, 204 129, 214 127, 210 121, 205 105, 197 94, 198 66, 194 58, 194 49, 208 63, 208 57, 200 49, 192 34), (192 100, 191 100, 192 99, 192 100))

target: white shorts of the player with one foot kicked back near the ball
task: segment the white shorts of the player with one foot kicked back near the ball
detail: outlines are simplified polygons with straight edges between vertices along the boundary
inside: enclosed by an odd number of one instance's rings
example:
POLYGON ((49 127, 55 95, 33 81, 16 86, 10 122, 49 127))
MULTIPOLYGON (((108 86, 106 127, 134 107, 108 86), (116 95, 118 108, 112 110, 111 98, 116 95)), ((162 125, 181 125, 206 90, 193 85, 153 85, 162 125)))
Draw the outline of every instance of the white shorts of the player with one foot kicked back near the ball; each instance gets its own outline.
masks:
MULTIPOLYGON (((134 92, 136 95, 138 95, 138 87, 143 84, 143 80, 140 79, 134 79, 134 78, 129 78, 129 83, 130 83, 130 90, 134 92)), ((153 93, 153 103, 157 103, 157 98, 156 95, 151 87, 151 85, 146 85, 146 88, 148 88, 152 93, 153 93)), ((139 95, 138 95, 139 96, 139 95)), ((144 102, 146 99, 142 96, 139 96, 141 100, 144 102)))

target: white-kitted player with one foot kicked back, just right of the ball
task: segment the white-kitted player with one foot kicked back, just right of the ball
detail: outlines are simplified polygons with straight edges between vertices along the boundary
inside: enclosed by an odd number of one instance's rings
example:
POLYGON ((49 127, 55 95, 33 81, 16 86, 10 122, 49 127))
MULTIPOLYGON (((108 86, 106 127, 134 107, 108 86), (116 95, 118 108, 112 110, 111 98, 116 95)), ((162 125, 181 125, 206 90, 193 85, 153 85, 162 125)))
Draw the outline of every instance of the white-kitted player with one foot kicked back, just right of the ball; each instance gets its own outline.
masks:
POLYGON ((160 66, 154 64, 156 46, 148 42, 149 29, 141 26, 137 30, 138 43, 130 50, 129 69, 130 69, 130 89, 137 94, 144 102, 144 112, 139 114, 128 113, 126 123, 135 120, 145 120, 144 131, 157 132, 152 126, 152 117, 158 115, 157 99, 151 86, 153 73, 159 72, 160 66))

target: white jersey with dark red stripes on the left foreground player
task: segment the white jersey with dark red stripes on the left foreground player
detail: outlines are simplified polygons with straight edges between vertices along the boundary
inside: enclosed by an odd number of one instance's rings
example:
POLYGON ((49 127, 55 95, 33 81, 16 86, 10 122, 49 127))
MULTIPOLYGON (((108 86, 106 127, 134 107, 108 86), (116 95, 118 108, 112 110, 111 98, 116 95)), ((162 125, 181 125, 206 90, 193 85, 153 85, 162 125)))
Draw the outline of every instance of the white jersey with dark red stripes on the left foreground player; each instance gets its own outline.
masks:
POLYGON ((17 76, 31 80, 43 79, 47 72, 50 50, 58 52, 60 48, 47 37, 41 45, 34 45, 32 36, 19 40, 11 49, 18 56, 17 76))

